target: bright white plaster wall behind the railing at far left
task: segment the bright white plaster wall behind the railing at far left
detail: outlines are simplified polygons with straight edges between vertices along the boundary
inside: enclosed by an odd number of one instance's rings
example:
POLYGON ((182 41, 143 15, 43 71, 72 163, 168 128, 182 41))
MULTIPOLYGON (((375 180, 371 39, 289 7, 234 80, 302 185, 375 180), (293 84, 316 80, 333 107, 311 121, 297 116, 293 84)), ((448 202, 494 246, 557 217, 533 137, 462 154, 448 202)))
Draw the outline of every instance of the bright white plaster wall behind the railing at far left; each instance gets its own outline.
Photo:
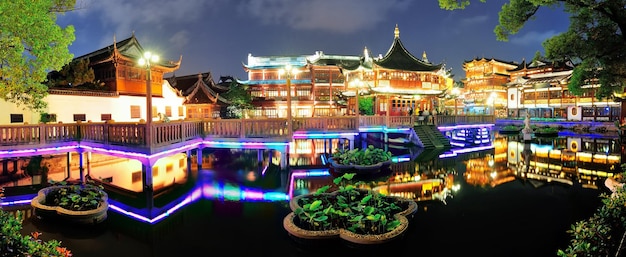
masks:
MULTIPOLYGON (((185 117, 185 108, 183 113, 178 112, 179 106, 183 106, 184 97, 178 96, 175 89, 164 80, 163 81, 163 97, 153 97, 152 106, 157 108, 157 112, 165 113, 165 107, 170 106, 172 116, 170 120, 183 119, 185 117)), ((45 98, 48 107, 46 113, 56 114, 57 121, 63 123, 73 123, 74 114, 85 114, 87 120, 100 122, 101 114, 111 114, 111 118, 118 122, 137 122, 140 119, 146 119, 146 97, 145 96, 118 96, 118 97, 95 97, 95 96, 73 96, 73 95, 55 95, 50 94, 45 98), (130 106, 140 106, 140 118, 132 119, 130 117, 130 106)), ((0 100, 0 124, 10 124, 10 114, 23 114, 24 122, 37 124, 39 122, 39 113, 31 110, 24 110, 15 104, 0 100)), ((158 120, 158 118, 154 118, 158 120)))

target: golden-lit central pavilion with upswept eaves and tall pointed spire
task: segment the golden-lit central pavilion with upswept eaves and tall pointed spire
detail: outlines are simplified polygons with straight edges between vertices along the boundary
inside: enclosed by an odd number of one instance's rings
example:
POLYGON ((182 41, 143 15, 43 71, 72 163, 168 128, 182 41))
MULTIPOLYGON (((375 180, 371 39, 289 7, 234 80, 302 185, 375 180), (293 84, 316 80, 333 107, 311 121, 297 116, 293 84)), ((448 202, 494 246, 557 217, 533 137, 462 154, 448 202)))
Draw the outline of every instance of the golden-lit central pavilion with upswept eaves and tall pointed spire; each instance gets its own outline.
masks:
POLYGON ((342 67, 348 88, 375 97, 374 112, 392 116, 411 110, 441 110, 438 97, 452 87, 453 80, 443 64, 428 61, 426 52, 416 58, 402 44, 396 25, 391 47, 384 56, 372 58, 363 52, 359 66, 342 67))

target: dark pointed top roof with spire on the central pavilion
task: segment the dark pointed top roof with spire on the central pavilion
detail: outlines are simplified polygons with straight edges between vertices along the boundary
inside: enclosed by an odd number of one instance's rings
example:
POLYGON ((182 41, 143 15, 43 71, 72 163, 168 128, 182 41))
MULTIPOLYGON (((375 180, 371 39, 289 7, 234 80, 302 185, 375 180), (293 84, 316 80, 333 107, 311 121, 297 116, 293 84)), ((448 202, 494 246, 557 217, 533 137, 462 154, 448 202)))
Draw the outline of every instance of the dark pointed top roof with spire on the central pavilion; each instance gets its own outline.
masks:
MULTIPOLYGON (((394 35, 393 43, 385 56, 373 60, 374 64, 386 69, 406 71, 435 71, 441 69, 442 64, 432 64, 427 60, 417 59, 404 47, 400 40, 398 25, 396 25, 394 35)), ((424 56, 426 56, 425 53, 424 56)))

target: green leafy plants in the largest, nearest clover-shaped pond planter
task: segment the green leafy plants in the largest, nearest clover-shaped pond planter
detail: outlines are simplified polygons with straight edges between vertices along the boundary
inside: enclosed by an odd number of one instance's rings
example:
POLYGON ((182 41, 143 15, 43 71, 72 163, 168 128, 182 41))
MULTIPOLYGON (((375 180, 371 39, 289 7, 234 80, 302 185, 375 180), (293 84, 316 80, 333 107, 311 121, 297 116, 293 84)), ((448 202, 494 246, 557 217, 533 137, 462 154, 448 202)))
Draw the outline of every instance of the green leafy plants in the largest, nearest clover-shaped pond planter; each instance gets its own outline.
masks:
POLYGON ((333 180, 339 187, 328 194, 329 185, 299 199, 294 211, 299 225, 307 230, 322 231, 345 228, 357 234, 377 235, 394 230, 400 221, 393 215, 403 210, 395 198, 371 190, 359 190, 362 182, 351 184, 355 173, 346 173, 333 180))

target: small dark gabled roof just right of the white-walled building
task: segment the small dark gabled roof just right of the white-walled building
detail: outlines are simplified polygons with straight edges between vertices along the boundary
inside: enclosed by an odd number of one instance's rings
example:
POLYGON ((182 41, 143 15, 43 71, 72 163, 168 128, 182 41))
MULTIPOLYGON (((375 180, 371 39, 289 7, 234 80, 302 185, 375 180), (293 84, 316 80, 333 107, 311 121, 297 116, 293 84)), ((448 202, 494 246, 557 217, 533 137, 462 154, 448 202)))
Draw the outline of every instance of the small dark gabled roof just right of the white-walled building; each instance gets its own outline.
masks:
POLYGON ((166 80, 172 87, 182 92, 185 97, 183 104, 216 104, 218 101, 225 104, 230 103, 212 89, 215 82, 213 82, 210 72, 180 77, 172 76, 166 80))

